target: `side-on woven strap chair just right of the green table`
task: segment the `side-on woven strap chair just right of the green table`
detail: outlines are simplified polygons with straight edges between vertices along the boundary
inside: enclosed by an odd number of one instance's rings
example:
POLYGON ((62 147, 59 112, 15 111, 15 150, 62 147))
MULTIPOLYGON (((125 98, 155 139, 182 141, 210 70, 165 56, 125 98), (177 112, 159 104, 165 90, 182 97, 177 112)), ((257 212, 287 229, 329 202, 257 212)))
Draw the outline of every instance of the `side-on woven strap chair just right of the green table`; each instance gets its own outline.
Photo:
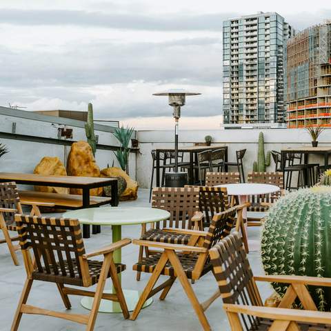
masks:
POLYGON ((190 245, 180 245, 172 243, 157 243, 152 241, 134 240, 132 243, 148 248, 158 248, 161 252, 155 252, 133 265, 133 270, 152 273, 146 288, 134 308, 130 319, 137 319, 145 301, 162 290, 160 299, 164 300, 174 281, 179 279, 183 290, 188 295, 188 299, 197 313, 203 330, 210 330, 210 325, 205 317, 204 310, 208 308, 212 301, 199 303, 188 279, 197 280, 204 274, 212 270, 208 250, 212 248, 220 239, 230 233, 235 222, 237 208, 231 208, 215 214, 210 223, 208 232, 194 230, 179 230, 183 234, 194 234, 201 237, 203 241, 200 247, 190 245), (159 276, 168 276, 168 280, 154 288, 159 276))

